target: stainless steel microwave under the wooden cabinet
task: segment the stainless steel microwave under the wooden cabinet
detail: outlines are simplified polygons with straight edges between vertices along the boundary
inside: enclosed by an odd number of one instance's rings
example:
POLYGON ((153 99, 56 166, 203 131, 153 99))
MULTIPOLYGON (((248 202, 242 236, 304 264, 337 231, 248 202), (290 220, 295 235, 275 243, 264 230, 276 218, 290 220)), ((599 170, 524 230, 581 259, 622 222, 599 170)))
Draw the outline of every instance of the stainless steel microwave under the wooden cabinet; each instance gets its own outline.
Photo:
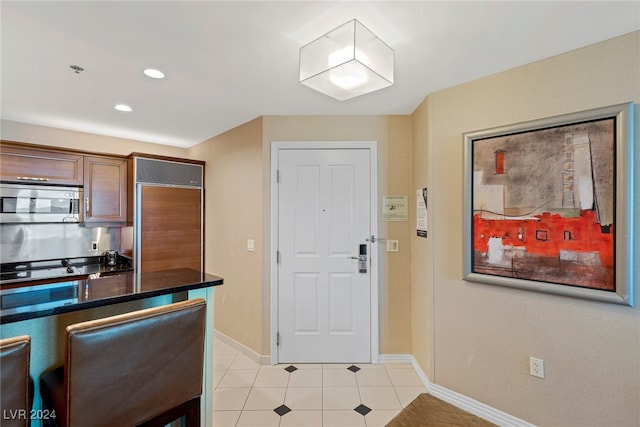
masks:
POLYGON ((0 184, 2 223, 82 222, 82 188, 0 184))

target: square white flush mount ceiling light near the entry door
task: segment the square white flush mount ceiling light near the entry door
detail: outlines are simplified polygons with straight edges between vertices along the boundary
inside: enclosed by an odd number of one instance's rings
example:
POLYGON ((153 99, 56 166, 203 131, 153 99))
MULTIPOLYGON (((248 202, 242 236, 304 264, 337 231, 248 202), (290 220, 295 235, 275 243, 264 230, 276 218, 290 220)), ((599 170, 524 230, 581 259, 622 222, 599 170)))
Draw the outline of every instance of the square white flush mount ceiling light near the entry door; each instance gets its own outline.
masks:
POLYGON ((393 49, 353 19, 300 48, 300 83, 339 101, 393 84, 393 49))

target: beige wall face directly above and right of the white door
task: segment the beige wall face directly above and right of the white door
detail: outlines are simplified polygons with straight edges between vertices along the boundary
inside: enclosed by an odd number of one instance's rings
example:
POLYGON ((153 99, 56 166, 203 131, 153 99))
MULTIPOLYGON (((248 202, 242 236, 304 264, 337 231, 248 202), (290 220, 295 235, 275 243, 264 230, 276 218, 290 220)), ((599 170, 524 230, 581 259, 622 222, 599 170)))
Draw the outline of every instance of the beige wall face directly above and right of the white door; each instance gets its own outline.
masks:
MULTIPOLYGON (((273 141, 376 141, 378 147, 378 237, 398 240, 399 252, 380 247, 380 353, 411 351, 410 236, 412 223, 382 221, 384 195, 408 196, 411 190, 410 116, 267 116, 264 118, 263 166, 270 168, 273 141)), ((270 223, 268 176, 265 220, 270 223)), ((415 232, 415 231, 414 231, 415 232)), ((267 235, 268 236, 268 235, 267 235)), ((265 238, 266 240, 266 238, 265 238)), ((268 280, 265 266, 265 280, 268 280)), ((267 282, 268 283, 268 282, 267 282)), ((265 317, 266 320, 268 318, 265 317)), ((268 342, 268 338, 265 336, 268 342)), ((263 352, 268 348, 263 347, 263 352)))

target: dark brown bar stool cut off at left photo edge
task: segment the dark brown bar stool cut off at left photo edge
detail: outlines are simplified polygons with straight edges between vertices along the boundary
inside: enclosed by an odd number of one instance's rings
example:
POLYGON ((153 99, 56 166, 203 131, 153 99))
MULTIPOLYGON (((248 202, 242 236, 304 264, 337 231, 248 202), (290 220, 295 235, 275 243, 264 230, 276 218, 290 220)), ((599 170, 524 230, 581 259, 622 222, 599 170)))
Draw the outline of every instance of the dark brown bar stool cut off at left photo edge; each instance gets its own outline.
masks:
POLYGON ((31 424, 33 381, 29 375, 31 337, 0 340, 0 407, 3 427, 31 424))

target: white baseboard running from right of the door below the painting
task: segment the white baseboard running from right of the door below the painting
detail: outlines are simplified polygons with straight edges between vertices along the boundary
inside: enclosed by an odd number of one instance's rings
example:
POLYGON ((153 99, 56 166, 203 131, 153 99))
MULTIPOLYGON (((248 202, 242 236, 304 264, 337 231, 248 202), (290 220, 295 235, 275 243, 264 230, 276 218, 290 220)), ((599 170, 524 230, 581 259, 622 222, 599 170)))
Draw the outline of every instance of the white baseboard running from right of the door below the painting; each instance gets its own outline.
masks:
POLYGON ((433 384, 425 375, 416 358, 411 354, 381 354, 380 363, 410 363, 429 394, 494 424, 503 427, 535 427, 534 424, 516 418, 513 415, 492 408, 489 405, 485 405, 482 402, 478 402, 475 399, 456 393, 438 384, 433 384))

